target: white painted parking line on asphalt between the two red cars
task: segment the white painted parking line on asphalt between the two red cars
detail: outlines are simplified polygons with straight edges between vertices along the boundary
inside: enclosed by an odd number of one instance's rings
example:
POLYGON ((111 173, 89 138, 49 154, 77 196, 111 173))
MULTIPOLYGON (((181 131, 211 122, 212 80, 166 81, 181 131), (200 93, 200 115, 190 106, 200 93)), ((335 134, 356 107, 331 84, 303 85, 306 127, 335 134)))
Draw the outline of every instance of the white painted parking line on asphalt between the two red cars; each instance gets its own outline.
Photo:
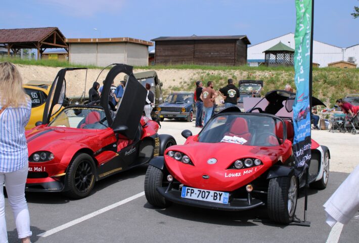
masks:
POLYGON ((70 222, 68 222, 68 223, 66 223, 66 224, 60 225, 60 226, 58 226, 58 227, 56 227, 56 228, 53 228, 53 229, 50 229, 50 230, 48 230, 48 231, 46 231, 46 232, 43 232, 43 233, 41 233, 41 234, 38 234, 37 236, 39 236, 39 237, 47 237, 47 236, 49 236, 49 235, 55 234, 55 233, 57 233, 57 232, 59 232, 59 231, 61 231, 61 230, 63 230, 63 229, 69 228, 69 227, 71 227, 71 226, 73 226, 73 225, 75 225, 75 224, 81 223, 81 222, 83 222, 83 221, 85 221, 85 220, 87 220, 87 219, 91 219, 91 218, 93 218, 93 217, 95 217, 95 216, 97 216, 97 215, 99 215, 99 214, 105 213, 105 212, 107 212, 107 211, 109 211, 109 210, 111 210, 111 209, 114 209, 114 208, 118 207, 118 206, 124 205, 125 203, 128 203, 129 201, 134 200, 134 199, 136 199, 136 198, 139 198, 139 197, 141 197, 141 196, 143 196, 143 195, 145 195, 145 192, 144 192, 144 191, 143 191, 143 192, 140 192, 140 193, 138 193, 138 194, 136 194, 136 195, 130 196, 130 197, 126 198, 126 199, 123 199, 123 200, 121 200, 121 201, 118 201, 118 202, 115 203, 115 204, 112 204, 112 205, 110 205, 110 206, 107 206, 107 207, 105 207, 105 208, 103 208, 103 209, 100 209, 100 210, 98 210, 98 211, 95 211, 95 212, 93 212, 93 213, 91 213, 91 214, 87 214, 87 215, 85 215, 85 216, 83 216, 83 217, 81 217, 81 218, 72 220, 72 221, 70 221, 70 222))

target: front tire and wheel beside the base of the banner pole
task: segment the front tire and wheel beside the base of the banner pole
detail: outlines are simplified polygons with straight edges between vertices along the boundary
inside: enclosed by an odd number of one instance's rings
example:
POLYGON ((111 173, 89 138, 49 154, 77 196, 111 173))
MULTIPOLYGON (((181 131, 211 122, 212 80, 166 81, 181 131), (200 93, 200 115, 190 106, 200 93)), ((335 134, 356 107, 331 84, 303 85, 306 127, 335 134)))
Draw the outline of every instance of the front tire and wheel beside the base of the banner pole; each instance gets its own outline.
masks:
POLYGON ((281 224, 293 221, 298 198, 295 175, 272 178, 268 185, 267 210, 269 218, 281 224))

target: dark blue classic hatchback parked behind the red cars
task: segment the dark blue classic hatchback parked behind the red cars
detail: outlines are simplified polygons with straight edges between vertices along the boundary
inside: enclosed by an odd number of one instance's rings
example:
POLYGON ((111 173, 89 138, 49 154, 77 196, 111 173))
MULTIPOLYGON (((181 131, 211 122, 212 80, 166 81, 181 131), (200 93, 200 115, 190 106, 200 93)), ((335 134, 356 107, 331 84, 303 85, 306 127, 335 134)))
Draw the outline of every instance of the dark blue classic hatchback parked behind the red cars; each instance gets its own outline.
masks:
POLYGON ((193 92, 173 92, 166 101, 159 105, 156 114, 161 121, 168 119, 186 119, 192 121, 196 114, 196 105, 193 92))

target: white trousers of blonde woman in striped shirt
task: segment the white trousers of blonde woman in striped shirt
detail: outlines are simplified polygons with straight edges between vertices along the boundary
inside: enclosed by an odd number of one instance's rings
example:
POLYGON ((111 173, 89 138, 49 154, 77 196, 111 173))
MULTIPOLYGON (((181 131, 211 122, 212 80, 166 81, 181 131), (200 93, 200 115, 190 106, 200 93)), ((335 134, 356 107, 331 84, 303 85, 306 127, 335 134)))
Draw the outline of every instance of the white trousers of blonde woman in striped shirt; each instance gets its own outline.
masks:
POLYGON ((8 201, 14 214, 19 238, 32 235, 30 231, 29 210, 25 199, 25 183, 28 165, 14 172, 0 172, 0 243, 8 242, 5 221, 4 182, 8 193, 8 201))

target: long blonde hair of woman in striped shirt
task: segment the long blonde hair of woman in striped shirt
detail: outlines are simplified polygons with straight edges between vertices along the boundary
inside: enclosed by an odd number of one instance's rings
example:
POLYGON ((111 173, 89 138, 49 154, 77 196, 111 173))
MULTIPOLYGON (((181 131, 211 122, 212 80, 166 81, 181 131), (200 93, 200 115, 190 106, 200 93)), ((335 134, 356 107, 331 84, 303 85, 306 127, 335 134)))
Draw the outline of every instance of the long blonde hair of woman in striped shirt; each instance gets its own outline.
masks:
POLYGON ((0 103, 2 106, 19 107, 30 98, 22 88, 22 78, 14 64, 0 63, 0 103))

